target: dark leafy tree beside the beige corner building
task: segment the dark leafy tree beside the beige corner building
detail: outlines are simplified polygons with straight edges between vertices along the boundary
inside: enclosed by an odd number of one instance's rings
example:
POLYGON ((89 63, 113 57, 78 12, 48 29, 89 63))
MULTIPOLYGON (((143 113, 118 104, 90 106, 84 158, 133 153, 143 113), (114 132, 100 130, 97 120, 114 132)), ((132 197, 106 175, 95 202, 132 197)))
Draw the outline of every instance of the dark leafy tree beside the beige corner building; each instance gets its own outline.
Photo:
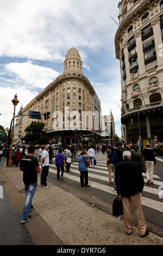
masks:
POLYGON ((41 122, 32 121, 32 123, 24 130, 27 132, 26 136, 24 137, 24 141, 30 144, 41 144, 47 141, 47 136, 43 131, 45 124, 41 122), (42 142, 43 139, 43 142, 42 142))

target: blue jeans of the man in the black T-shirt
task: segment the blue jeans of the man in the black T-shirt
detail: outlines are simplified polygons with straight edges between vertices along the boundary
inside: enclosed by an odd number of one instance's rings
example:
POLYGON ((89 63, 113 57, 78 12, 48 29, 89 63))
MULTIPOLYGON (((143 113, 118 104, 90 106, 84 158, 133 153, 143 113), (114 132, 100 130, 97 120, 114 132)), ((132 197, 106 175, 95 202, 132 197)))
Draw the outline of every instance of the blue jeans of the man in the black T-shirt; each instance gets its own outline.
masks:
POLYGON ((36 183, 26 183, 24 182, 24 188, 25 188, 25 199, 26 199, 26 204, 24 205, 23 212, 22 212, 22 221, 26 220, 26 218, 29 215, 30 208, 32 207, 32 199, 35 194, 35 190, 37 187, 37 182, 36 183))

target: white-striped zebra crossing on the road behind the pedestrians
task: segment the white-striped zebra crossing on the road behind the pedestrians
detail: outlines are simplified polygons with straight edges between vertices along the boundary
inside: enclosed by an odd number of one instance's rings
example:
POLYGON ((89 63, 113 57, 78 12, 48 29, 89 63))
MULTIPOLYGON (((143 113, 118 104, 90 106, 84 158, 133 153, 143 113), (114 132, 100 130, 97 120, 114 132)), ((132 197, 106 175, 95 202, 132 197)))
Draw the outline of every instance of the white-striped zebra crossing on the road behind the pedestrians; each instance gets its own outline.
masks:
MULTIPOLYGON (((106 154, 96 154, 96 161, 97 165, 95 168, 88 168, 89 172, 89 184, 92 188, 97 188, 100 191, 108 192, 110 194, 116 194, 112 190, 112 186, 109 185, 109 175, 108 175, 108 168, 106 167, 106 154)), ((161 159, 157 159, 160 161, 163 161, 161 159)), ((74 160, 71 163, 71 172, 66 173, 64 172, 64 178, 71 179, 73 181, 79 182, 80 184, 80 173, 78 170, 78 162, 75 162, 74 160)), ((49 166, 49 172, 57 174, 57 168, 54 166, 54 164, 49 166)), ((114 177, 112 176, 112 179, 114 177)), ((157 211, 163 212, 163 203, 161 202, 161 199, 159 198, 159 187, 163 185, 163 182, 160 180, 160 177, 158 175, 154 174, 154 185, 149 186, 147 185, 147 179, 146 174, 143 173, 143 178, 145 181, 145 186, 143 188, 141 202, 142 205, 148 206, 152 209, 155 209, 157 211), (143 196, 143 193, 146 192, 146 197, 143 196), (152 199, 154 195, 154 199, 152 199), (148 196, 148 197, 147 197, 148 196)))

